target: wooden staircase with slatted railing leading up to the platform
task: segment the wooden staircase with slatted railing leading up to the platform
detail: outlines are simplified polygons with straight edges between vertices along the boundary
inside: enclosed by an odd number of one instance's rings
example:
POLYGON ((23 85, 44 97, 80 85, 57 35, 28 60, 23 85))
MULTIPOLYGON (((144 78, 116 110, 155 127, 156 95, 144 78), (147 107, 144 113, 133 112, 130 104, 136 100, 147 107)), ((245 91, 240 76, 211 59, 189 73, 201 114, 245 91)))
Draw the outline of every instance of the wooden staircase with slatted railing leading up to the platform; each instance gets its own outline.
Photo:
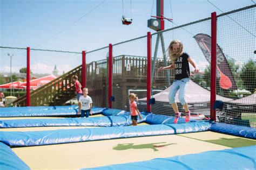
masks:
MULTIPOLYGON (((82 80, 82 65, 70 70, 68 73, 57 77, 30 93, 30 105, 64 105, 66 101, 76 97, 72 76, 77 75, 82 80)), ((12 102, 13 105, 26 106, 26 95, 12 102)))

